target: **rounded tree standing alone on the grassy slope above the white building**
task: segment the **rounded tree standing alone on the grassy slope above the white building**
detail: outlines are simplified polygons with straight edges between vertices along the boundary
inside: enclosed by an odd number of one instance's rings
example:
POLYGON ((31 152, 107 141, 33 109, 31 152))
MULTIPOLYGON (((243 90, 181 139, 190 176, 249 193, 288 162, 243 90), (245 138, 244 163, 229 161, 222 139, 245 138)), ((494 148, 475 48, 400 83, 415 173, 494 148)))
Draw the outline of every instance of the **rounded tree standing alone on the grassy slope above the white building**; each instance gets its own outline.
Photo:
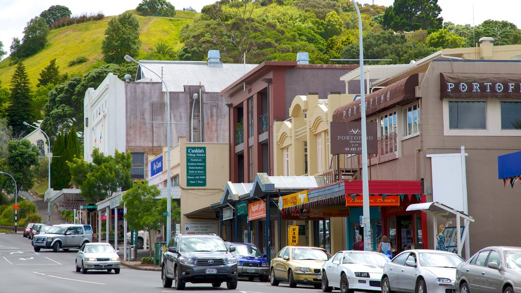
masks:
POLYGON ((108 22, 102 42, 104 60, 107 63, 123 63, 125 55, 138 55, 141 45, 139 40, 139 22, 131 13, 124 13, 108 22))

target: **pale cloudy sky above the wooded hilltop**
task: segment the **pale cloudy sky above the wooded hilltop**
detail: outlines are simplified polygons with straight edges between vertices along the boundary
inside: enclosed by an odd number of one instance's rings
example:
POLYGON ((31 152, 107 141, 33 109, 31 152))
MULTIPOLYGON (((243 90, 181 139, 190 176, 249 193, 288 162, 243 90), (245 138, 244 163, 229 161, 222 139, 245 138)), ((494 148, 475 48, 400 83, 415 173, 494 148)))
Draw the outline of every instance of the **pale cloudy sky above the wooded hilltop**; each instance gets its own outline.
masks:
MULTIPOLYGON (((192 7, 197 12, 205 5, 216 0, 170 0, 170 3, 181 10, 192 7)), ((106 16, 119 15, 126 10, 135 9, 142 0, 0 0, 0 42, 4 51, 9 52, 13 38, 22 39, 23 29, 31 18, 40 15, 42 11, 53 5, 67 6, 72 15, 91 14, 102 11, 106 16)), ((394 0, 358 0, 358 3, 390 6, 394 0)), ((457 25, 479 25, 487 19, 506 20, 521 28, 521 10, 519 0, 438 0, 441 7, 441 17, 457 25)))

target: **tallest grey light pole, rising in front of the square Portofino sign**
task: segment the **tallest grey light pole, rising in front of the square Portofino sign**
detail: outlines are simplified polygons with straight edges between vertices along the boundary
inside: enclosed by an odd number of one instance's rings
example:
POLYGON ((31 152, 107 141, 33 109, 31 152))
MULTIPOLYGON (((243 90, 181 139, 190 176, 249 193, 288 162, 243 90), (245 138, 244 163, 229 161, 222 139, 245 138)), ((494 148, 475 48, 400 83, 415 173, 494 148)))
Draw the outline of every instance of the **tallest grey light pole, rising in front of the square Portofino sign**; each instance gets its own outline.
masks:
POLYGON ((358 43, 360 50, 360 104, 362 114, 362 200, 364 224, 364 246, 365 250, 373 250, 373 239, 371 238, 371 217, 369 214, 369 178, 367 172, 367 129, 365 116, 365 88, 364 88, 364 43, 362 40, 362 16, 358 9, 358 4, 352 0, 358 14, 358 43))

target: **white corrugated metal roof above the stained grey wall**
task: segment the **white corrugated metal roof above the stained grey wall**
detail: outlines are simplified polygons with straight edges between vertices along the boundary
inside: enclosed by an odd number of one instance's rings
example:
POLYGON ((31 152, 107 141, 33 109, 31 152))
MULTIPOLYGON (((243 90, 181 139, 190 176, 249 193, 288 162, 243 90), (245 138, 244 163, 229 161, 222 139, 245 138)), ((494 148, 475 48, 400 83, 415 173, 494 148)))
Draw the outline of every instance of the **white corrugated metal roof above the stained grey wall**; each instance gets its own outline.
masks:
MULTIPOLYGON (((170 92, 184 92, 185 85, 196 86, 199 84, 204 86, 206 92, 220 92, 230 82, 239 79, 257 66, 256 64, 226 63, 210 66, 207 62, 194 61, 140 60, 140 63, 143 66, 138 66, 137 82, 161 82, 159 77, 154 74, 156 72, 163 77, 170 92)), ((164 85, 163 90, 165 91, 164 85)))

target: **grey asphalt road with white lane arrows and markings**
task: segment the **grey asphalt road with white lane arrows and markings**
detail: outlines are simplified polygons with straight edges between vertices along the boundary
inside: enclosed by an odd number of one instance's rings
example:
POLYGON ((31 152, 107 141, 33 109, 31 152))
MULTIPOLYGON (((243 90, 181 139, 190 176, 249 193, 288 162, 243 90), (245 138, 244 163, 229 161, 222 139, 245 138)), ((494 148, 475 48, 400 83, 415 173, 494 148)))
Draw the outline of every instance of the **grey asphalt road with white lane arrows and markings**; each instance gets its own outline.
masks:
MULTIPOLYGON (((173 288, 163 288, 161 272, 133 270, 122 267, 119 275, 114 272, 89 271, 86 275, 75 271, 75 257, 78 250, 52 252, 42 249, 34 252, 31 242, 21 234, 0 234, 0 292, 17 293, 84 293, 84 292, 125 292, 155 293, 175 292, 173 288), (4 290, 7 289, 8 290, 4 290)), ((235 293, 295 293, 322 292, 309 286, 290 289, 288 284, 270 286, 240 280, 236 290, 227 290, 226 284, 213 288, 211 284, 187 284, 185 291, 235 293)), ((338 292, 337 290, 335 290, 338 292)))

